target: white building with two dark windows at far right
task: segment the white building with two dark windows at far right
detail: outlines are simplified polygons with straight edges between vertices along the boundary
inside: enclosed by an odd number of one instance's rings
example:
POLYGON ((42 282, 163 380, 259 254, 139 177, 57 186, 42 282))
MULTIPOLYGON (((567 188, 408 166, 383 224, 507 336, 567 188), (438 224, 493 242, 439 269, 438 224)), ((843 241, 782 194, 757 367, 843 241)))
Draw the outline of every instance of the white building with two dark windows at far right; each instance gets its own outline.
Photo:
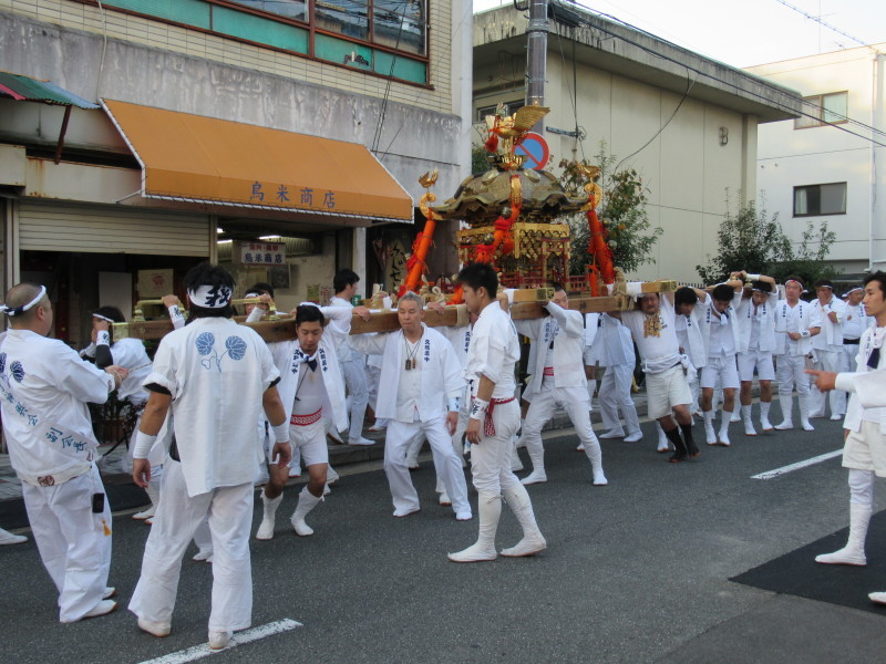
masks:
POLYGON ((748 70, 803 95, 801 117, 760 128, 760 197, 795 241, 827 221, 846 278, 886 267, 884 70, 886 43, 748 70))

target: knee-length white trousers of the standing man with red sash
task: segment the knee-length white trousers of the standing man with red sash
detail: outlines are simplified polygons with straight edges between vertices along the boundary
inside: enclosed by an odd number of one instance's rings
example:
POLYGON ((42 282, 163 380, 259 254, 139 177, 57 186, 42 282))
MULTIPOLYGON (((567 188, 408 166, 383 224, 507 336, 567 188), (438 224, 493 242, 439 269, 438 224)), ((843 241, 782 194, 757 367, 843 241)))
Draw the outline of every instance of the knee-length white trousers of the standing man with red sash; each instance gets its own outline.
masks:
MULTIPOLYGON (((585 391, 587 397, 587 391, 585 391)), ((522 486, 511 470, 512 442, 519 428, 519 404, 517 400, 498 404, 493 408, 492 421, 495 435, 486 436, 483 421, 480 422, 480 443, 471 444, 471 475, 474 488, 481 495, 501 496, 513 487, 522 486)))

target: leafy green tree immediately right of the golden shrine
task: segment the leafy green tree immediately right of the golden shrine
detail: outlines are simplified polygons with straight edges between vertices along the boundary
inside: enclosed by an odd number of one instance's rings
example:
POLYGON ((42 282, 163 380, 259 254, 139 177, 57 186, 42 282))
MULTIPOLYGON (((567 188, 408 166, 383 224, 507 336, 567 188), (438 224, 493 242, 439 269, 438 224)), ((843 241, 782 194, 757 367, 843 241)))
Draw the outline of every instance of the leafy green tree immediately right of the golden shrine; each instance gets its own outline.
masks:
MULTIPOLYGON (((596 178, 602 189, 601 200, 597 205, 597 216, 604 226, 604 234, 612 250, 612 262, 625 272, 632 272, 646 262, 655 262, 652 248, 663 232, 660 227, 652 227, 646 211, 646 187, 642 178, 633 169, 614 170, 616 156, 606 152, 606 143, 600 142, 600 152, 595 155, 600 168, 596 178)), ((583 160, 581 164, 589 165, 583 160)), ((586 178, 575 162, 566 159, 559 163, 563 168, 560 181, 570 193, 583 190, 586 178)), ((584 274, 590 263, 588 239, 590 229, 585 215, 571 215, 568 218, 571 230, 571 258, 569 272, 584 274)))

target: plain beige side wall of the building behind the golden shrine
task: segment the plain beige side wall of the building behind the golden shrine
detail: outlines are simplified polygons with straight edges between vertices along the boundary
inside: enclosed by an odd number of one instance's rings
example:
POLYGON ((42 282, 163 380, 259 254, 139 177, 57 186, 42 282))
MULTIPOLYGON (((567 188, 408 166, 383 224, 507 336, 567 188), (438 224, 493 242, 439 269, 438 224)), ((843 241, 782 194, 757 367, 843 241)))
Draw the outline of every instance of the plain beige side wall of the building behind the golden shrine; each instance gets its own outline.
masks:
MULTIPOLYGON (((476 75, 483 79, 482 72, 476 75)), ((635 168, 642 177, 649 220, 663 229, 653 250, 655 263, 629 277, 698 282, 696 266, 704 264, 715 250, 727 200, 734 211, 744 191, 755 189, 748 183, 753 172, 743 170, 743 164, 756 160, 755 141, 743 141, 745 126, 755 131, 755 118, 748 122, 741 113, 687 98, 668 123, 681 95, 581 64, 577 76, 578 124, 587 138, 579 146, 575 138, 546 132, 553 170, 559 172, 562 158, 593 162, 599 143, 606 142, 607 153, 624 159, 619 170, 635 168), (720 145, 720 127, 729 132, 727 145, 720 145)), ((571 62, 564 70, 558 52, 556 58, 549 53, 547 81, 546 105, 552 111, 545 126, 571 131, 576 124, 571 62)), ((512 87, 495 97, 483 96, 475 100, 475 114, 477 107, 522 94, 522 89, 512 87)))

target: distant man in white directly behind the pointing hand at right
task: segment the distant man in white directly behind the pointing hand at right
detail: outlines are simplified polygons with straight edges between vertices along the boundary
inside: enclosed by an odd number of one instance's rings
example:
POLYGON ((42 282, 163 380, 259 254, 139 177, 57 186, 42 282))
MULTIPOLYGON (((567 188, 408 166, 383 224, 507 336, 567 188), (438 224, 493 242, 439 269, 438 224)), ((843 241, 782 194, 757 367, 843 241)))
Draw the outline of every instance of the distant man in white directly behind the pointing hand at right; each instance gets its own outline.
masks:
MULTIPOLYGON (((846 319, 846 303, 834 294, 834 284, 827 279, 815 282, 815 300, 810 302, 818 315, 822 331, 812 340, 815 351, 813 369, 828 373, 845 372, 848 367, 843 350, 843 323, 846 319)), ((846 393, 832 390, 825 396, 813 382, 810 393, 810 417, 824 417, 826 403, 831 405, 831 419, 843 419, 846 414, 846 393)))

